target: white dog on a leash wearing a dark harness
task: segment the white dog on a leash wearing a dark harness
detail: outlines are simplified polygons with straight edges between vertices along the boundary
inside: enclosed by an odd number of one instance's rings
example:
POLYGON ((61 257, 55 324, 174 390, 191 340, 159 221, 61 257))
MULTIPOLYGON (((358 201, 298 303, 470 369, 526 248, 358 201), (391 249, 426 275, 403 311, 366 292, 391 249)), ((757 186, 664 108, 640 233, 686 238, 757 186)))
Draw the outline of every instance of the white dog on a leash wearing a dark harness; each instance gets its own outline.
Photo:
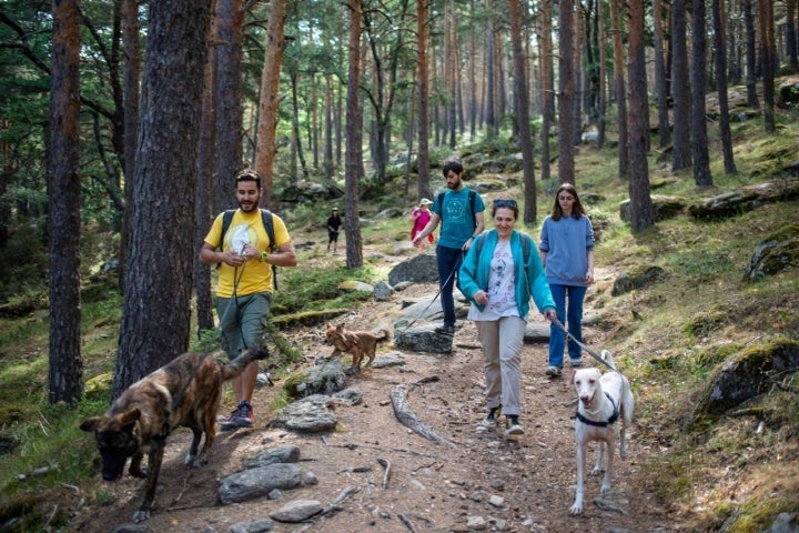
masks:
MULTIPOLYGON (((603 350, 601 356, 611 369, 616 369, 613 355, 603 350)), ((575 503, 569 514, 583 513, 583 479, 585 470, 585 455, 588 442, 597 441, 597 460, 591 475, 601 472, 603 454, 607 446, 607 467, 601 485, 601 493, 610 492, 613 476, 614 444, 616 443, 617 420, 621 420, 621 438, 619 456, 627 456, 625 445, 625 430, 633 423, 635 400, 627 378, 611 370, 603 374, 599 369, 578 369, 572 382, 577 390, 577 416, 575 418, 575 438, 577 440, 577 491, 575 503)))

